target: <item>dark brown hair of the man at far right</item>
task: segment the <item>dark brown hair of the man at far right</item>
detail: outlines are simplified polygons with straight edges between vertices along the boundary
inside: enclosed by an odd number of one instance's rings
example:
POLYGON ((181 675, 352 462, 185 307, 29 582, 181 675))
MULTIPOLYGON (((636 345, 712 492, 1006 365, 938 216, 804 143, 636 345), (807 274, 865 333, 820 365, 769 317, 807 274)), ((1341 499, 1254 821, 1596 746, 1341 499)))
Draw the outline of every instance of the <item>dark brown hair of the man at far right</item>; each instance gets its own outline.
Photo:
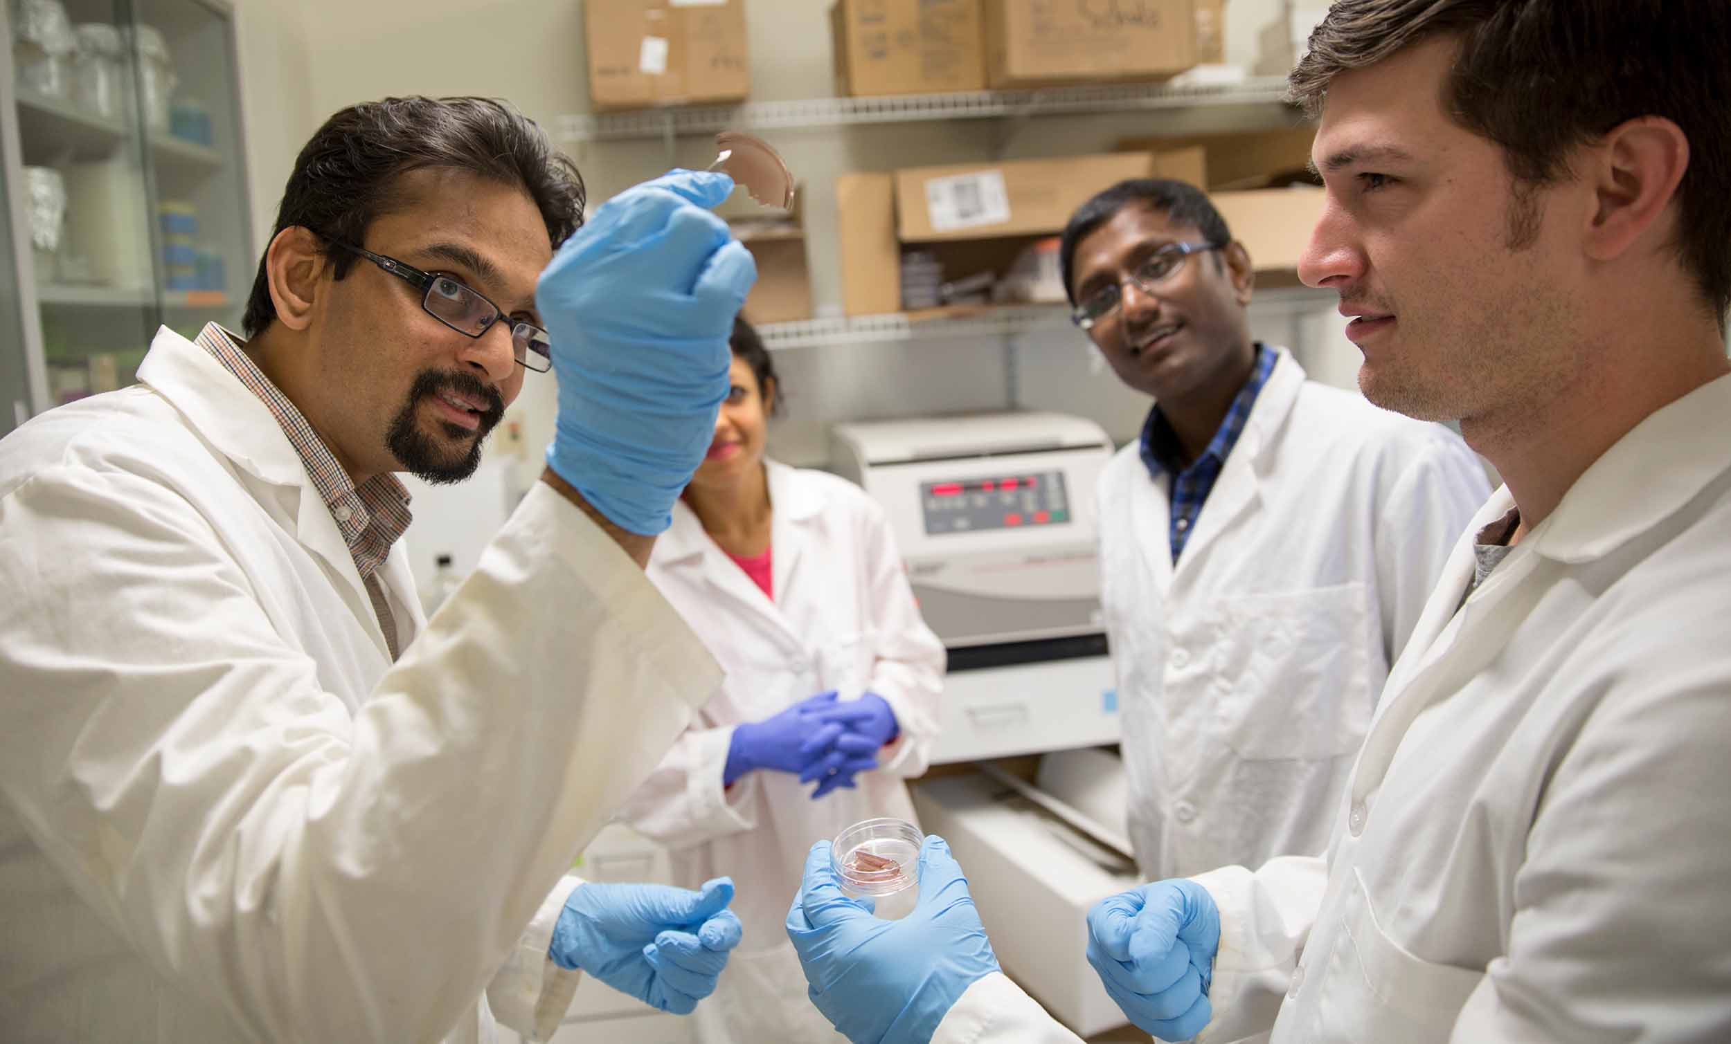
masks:
POLYGON ((1312 116, 1329 83, 1433 38, 1458 41, 1444 109, 1503 147, 1509 242, 1537 235, 1535 188, 1568 154, 1639 116, 1689 140, 1674 245, 1702 299, 1731 306, 1731 0, 1338 0, 1310 33, 1291 97, 1312 116))

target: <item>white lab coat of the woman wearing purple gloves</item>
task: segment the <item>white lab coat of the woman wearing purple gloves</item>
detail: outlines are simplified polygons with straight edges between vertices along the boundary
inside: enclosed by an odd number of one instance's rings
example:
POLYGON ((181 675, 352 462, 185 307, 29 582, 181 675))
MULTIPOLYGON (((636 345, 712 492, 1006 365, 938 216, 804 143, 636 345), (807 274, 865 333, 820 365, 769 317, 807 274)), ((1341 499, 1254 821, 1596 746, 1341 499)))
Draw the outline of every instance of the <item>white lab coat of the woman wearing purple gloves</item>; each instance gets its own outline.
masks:
POLYGON ((656 544, 649 579, 692 624, 727 679, 623 818, 672 849, 675 882, 732 875, 744 939, 698 1011, 705 1041, 760 1044, 838 1039, 807 997, 788 942, 788 904, 812 842, 874 816, 914 821, 909 776, 926 771, 943 684, 943 645, 919 619, 890 524, 860 487, 765 462, 774 506, 775 600, 734 563, 684 503, 656 544), (824 690, 874 691, 900 736, 857 788, 810 799, 786 773, 722 767, 734 726, 824 690))

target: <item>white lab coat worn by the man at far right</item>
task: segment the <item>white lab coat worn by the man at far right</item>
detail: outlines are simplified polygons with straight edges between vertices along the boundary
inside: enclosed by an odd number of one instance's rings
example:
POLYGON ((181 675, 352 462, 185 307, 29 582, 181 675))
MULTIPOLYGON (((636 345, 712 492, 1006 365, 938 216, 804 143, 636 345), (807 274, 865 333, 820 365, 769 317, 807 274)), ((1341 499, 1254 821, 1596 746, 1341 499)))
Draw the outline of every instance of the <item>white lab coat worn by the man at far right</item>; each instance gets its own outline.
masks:
POLYGON ((1728 446, 1721 377, 1594 462, 1456 612, 1473 532, 1513 500, 1478 512, 1328 859, 1196 878, 1222 930, 1200 1042, 1731 1041, 1728 446))

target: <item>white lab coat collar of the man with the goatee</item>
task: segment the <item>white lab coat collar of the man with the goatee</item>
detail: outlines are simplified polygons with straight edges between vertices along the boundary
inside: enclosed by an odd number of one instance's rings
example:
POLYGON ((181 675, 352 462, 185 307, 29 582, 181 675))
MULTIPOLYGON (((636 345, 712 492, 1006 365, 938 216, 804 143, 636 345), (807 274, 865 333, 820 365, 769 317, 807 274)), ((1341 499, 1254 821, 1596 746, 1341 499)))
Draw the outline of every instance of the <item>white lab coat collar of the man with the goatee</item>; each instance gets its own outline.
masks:
MULTIPOLYGON (((138 365, 138 380, 168 399, 204 441, 249 475, 273 486, 310 482, 270 408, 180 334, 168 327, 156 332, 138 365)), ((313 500, 324 506, 317 494, 313 500)))

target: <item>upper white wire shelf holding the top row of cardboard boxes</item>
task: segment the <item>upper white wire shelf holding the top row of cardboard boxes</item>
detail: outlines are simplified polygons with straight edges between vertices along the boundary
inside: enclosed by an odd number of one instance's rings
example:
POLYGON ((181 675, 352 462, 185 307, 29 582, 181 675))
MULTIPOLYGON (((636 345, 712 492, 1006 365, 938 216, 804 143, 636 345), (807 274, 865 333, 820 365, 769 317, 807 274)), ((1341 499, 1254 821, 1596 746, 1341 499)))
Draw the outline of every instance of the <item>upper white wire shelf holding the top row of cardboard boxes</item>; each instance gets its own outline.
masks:
POLYGON ((1141 112, 1198 105, 1286 105, 1284 76, 1252 76, 1231 86, 1059 86, 1047 90, 971 90, 942 95, 888 95, 871 99, 810 99, 800 102, 746 102, 743 105, 635 109, 601 116, 561 116, 561 142, 606 142, 711 135, 724 130, 786 130, 914 123, 930 119, 988 119, 1056 116, 1068 112, 1141 112))

